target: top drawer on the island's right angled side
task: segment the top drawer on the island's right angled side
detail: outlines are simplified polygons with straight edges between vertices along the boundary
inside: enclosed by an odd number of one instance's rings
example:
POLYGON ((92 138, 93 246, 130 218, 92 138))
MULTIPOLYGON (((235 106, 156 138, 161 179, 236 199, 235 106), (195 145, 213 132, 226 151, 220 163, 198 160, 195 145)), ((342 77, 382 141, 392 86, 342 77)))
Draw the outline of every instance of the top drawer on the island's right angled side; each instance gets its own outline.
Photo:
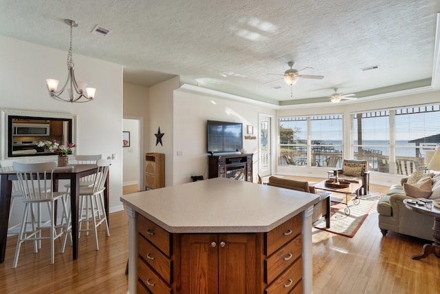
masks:
POLYGON ((265 255, 269 256, 294 239, 303 229, 303 214, 299 213, 287 222, 266 233, 265 255))

